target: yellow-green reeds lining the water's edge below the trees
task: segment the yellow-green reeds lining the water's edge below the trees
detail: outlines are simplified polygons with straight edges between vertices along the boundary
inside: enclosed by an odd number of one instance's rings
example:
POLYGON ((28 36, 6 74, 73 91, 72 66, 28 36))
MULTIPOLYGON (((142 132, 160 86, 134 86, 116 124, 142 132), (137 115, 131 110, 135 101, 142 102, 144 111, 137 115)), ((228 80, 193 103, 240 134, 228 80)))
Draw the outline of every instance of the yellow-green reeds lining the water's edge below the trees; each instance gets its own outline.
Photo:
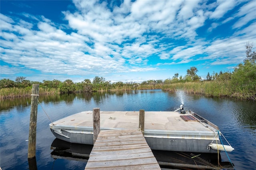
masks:
MULTIPOLYGON (((122 87, 99 88, 94 91, 125 91, 125 90, 146 90, 146 89, 162 89, 164 91, 175 92, 182 90, 185 93, 193 93, 205 95, 207 97, 233 97, 237 99, 248 99, 256 101, 256 87, 248 91, 245 88, 234 87, 230 81, 196 81, 196 82, 179 82, 170 84, 155 84, 155 85, 136 85, 122 87)), ((77 91, 76 92, 83 92, 77 91)), ((58 94, 60 89, 55 88, 40 88, 39 94, 58 94)), ((75 93, 75 91, 74 91, 75 93)), ((24 97, 31 95, 31 88, 2 88, 0 89, 0 99, 12 97, 24 97)))

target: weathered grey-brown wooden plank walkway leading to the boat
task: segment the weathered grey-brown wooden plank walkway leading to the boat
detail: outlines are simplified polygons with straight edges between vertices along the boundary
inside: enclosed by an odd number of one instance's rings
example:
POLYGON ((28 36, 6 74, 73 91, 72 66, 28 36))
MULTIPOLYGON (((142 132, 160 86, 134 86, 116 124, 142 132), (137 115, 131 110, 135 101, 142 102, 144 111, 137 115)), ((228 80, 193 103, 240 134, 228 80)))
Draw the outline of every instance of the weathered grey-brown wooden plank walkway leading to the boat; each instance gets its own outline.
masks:
POLYGON ((102 130, 85 169, 160 170, 160 166, 142 132, 137 129, 102 130))

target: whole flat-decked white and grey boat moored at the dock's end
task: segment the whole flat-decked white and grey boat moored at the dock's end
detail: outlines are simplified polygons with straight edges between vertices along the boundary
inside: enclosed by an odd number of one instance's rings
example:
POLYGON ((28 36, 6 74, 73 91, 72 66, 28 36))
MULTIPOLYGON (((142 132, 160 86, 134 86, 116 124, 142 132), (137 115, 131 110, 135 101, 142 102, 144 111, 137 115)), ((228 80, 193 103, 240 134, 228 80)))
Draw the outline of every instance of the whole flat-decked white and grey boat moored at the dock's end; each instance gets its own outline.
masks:
MULTIPOLYGON (((50 124, 52 133, 71 143, 93 144, 93 112, 84 111, 50 124)), ((145 111, 144 137, 152 150, 217 153, 218 127, 191 111, 145 111), (184 114, 182 114, 184 113, 184 114)), ((139 111, 100 111, 100 130, 139 128, 139 111)))

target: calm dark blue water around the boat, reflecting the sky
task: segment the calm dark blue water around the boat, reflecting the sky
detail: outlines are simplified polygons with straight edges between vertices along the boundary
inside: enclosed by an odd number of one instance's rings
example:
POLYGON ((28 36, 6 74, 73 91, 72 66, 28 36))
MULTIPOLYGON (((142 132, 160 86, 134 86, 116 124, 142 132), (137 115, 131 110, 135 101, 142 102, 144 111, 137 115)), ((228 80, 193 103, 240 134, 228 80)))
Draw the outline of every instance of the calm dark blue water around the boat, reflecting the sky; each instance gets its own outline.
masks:
MULTIPOLYGON (((234 99, 206 98, 182 91, 168 93, 161 90, 129 92, 83 93, 40 96, 42 107, 52 119, 81 111, 174 111, 181 103, 217 125, 235 148, 228 152, 236 170, 256 170, 256 102, 234 99)), ((2 170, 27 170, 28 132, 31 98, 0 102, 0 167, 2 170)), ((86 163, 76 160, 54 159, 51 144, 55 137, 50 120, 38 105, 36 163, 38 170, 82 170, 86 163)), ((228 161, 224 152, 222 161, 228 161)))

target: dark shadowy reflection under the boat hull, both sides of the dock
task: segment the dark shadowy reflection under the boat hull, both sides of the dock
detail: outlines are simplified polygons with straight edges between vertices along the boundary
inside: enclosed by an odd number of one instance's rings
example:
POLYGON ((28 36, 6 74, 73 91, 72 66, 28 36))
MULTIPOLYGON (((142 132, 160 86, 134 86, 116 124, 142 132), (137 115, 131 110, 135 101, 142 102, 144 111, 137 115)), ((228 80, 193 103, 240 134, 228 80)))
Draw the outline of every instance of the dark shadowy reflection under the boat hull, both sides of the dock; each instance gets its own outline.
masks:
MULTIPOLYGON (((54 159, 76 160, 87 162, 93 145, 74 144, 55 139, 51 145, 51 157, 54 159)), ((212 169, 218 166, 232 168, 229 162, 222 162, 220 154, 171 152, 152 150, 161 168, 182 169, 212 169)))

